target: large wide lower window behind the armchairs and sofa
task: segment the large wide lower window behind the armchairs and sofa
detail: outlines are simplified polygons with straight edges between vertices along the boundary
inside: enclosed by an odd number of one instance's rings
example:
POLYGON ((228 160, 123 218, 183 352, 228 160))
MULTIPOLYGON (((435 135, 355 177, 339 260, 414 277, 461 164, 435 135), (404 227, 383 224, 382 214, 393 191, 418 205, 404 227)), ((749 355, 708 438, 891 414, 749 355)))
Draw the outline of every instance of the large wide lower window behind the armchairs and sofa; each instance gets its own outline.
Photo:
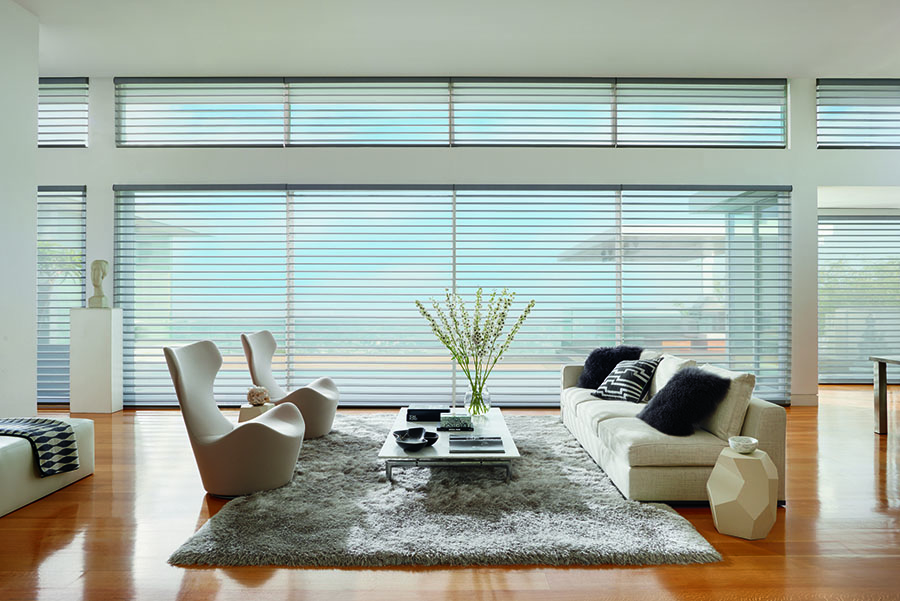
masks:
POLYGON ((329 375, 346 404, 463 389, 414 301, 508 287, 537 306, 491 378, 501 404, 558 402, 560 365, 619 342, 790 388, 790 210, 780 188, 118 187, 125 401, 174 402, 161 348, 222 348, 218 398, 271 329, 276 377, 329 375))

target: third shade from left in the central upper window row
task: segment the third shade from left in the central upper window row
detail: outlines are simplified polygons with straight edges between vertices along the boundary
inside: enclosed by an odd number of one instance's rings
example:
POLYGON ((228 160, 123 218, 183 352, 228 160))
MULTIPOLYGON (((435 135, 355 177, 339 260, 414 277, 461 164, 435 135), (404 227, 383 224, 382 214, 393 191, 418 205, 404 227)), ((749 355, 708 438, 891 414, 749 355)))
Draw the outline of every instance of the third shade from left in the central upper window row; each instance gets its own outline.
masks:
POLYGON ((612 146, 611 81, 454 81, 453 142, 612 146))

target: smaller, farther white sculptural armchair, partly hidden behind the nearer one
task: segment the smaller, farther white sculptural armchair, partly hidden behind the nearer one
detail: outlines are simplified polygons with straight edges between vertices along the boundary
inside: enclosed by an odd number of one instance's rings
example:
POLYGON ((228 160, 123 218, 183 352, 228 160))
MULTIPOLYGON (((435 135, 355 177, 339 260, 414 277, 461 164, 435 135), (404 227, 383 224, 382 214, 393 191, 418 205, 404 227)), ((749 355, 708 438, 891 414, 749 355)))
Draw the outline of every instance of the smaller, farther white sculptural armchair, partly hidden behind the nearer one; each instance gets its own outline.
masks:
POLYGON ((331 432, 337 412, 340 392, 331 378, 319 378, 288 394, 272 375, 272 357, 278 345, 269 330, 241 334, 244 355, 250 367, 250 378, 256 386, 269 389, 269 397, 276 405, 292 403, 300 409, 306 423, 306 438, 318 438, 331 432))

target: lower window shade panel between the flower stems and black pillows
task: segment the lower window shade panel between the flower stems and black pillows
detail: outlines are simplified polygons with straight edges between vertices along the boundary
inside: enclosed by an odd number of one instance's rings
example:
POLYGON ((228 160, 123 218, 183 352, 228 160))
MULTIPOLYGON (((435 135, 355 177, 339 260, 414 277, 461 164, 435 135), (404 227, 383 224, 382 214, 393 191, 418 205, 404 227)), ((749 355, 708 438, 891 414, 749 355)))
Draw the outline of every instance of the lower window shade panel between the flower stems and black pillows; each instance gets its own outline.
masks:
MULTIPOLYGON (((492 400, 546 403, 559 396, 559 370, 621 339, 616 262, 594 244, 616 230, 615 190, 460 190, 456 198, 456 290, 509 288, 530 299, 528 321, 488 381, 492 400), (584 245, 584 246, 582 246, 584 245), (581 251, 584 251, 582 254, 581 251)), ((467 382, 457 376, 457 390, 467 382)))

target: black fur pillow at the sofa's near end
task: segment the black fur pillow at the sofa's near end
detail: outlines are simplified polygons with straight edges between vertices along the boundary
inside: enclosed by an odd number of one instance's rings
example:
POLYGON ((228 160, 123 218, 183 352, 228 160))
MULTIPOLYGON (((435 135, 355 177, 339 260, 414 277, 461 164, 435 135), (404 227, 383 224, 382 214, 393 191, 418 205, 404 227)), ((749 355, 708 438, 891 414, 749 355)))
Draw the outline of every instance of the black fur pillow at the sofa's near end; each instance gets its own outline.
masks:
POLYGON ((664 434, 690 436, 694 424, 713 414, 730 387, 727 378, 686 367, 672 376, 637 417, 664 434))

